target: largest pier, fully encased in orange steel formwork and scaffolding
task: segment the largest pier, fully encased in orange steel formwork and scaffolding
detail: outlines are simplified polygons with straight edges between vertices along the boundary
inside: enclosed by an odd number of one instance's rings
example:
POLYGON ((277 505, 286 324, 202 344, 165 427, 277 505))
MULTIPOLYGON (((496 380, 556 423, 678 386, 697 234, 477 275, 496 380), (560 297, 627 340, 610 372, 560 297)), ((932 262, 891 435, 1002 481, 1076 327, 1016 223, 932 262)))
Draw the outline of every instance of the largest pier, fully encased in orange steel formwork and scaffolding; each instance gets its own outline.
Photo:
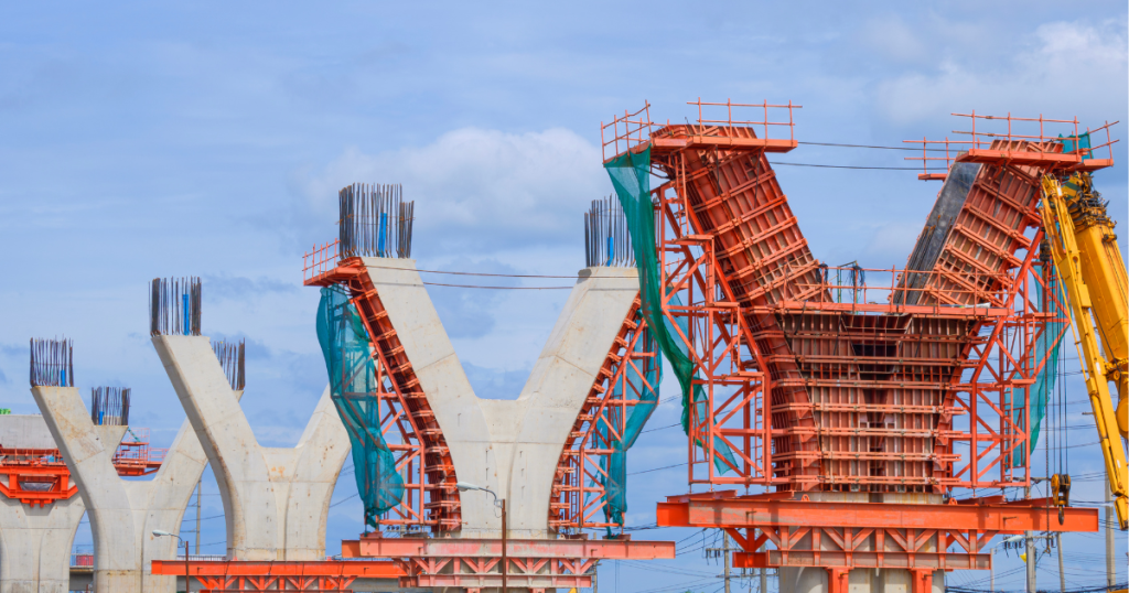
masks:
POLYGON ((693 369, 689 481, 710 488, 660 503, 658 524, 724 529, 735 567, 800 592, 940 591, 945 570, 989 568, 998 533, 1096 531, 1093 509, 975 492, 1031 485, 1038 345, 1069 321, 1032 265, 1039 178, 1109 163, 1000 117, 954 155, 907 269, 832 268, 768 159, 796 148, 798 106, 690 105, 695 123, 647 105, 603 125, 621 201, 659 212, 662 315, 693 369))

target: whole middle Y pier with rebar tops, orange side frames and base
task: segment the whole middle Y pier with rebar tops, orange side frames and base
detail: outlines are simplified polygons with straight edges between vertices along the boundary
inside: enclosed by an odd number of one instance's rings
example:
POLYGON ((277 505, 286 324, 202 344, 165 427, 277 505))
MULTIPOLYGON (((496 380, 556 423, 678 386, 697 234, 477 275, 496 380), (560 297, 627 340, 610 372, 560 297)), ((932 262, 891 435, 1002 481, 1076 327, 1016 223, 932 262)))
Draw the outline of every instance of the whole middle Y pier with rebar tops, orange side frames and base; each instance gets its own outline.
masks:
MULTIPOLYGON (((402 495, 369 513, 376 531, 343 542, 342 553, 393 558, 403 586, 470 591, 502 583, 534 591, 586 587, 598 559, 673 558, 673 542, 588 540, 581 533, 622 526, 612 507, 622 494, 613 490, 623 485, 601 476, 625 453, 623 439, 610 435, 621 435, 636 410, 646 415, 657 403, 657 376, 640 390, 646 380, 639 377, 655 372, 647 366, 655 355, 646 348, 634 270, 580 270, 522 393, 483 400, 409 259, 410 242, 395 238, 411 235, 404 212, 414 210, 386 200, 385 188, 342 190, 339 241, 316 247, 305 262, 305 284, 323 287, 323 304, 341 295, 333 323, 362 328, 359 339, 371 345, 365 357, 375 365, 374 381, 366 392, 343 393, 339 403, 350 418, 378 420, 350 428, 355 451, 359 441, 382 435, 365 447, 390 452, 403 477, 402 495), (379 412, 349 411, 365 399, 379 412)), ((589 239, 602 243, 590 253, 610 251, 601 263, 618 263, 615 232, 588 228, 589 239)), ((323 342, 323 349, 335 347, 323 342)), ((331 383, 335 372, 356 369, 331 365, 331 383)), ((359 485, 362 492, 369 486, 359 485)))

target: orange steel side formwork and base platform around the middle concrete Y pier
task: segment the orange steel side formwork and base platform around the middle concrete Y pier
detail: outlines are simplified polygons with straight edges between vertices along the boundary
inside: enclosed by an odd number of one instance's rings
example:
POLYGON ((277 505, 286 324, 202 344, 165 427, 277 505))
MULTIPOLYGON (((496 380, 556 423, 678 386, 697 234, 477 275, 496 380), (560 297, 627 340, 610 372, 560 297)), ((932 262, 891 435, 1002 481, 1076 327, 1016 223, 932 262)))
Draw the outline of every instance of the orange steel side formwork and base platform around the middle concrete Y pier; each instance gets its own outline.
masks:
MULTIPOLYGON (((404 502, 390 512, 393 515, 380 518, 379 524, 394 529, 429 527, 434 535, 458 530, 457 479, 443 430, 427 398, 419 391, 411 361, 404 355, 364 262, 356 258, 339 259, 338 242, 315 247, 306 255, 304 282, 306 286, 347 286, 373 338, 373 357, 384 385, 382 403, 388 407, 387 413, 382 413, 385 419, 382 431, 388 438, 390 448, 396 452, 397 469, 409 476, 405 489, 419 492, 405 496, 404 502)), ((633 370, 646 381, 649 365, 655 364, 653 350, 637 348, 640 343, 653 343, 639 305, 637 296, 610 346, 558 462, 549 526, 569 539, 511 541, 507 548, 513 551, 505 561, 508 583, 513 586, 533 591, 590 586, 589 573, 597 559, 674 557, 672 542, 631 542, 627 538, 588 542, 580 533, 584 529, 620 526, 603 516, 606 496, 602 478, 609 466, 607 457, 613 453, 611 441, 623 434, 627 418, 640 401, 636 391, 639 386, 628 381, 629 372, 633 370)), ((657 391, 657 386, 653 387, 657 391)), ((345 541, 342 546, 347 557, 396 558, 403 586, 458 586, 475 591, 500 584, 502 558, 501 543, 497 539, 437 541, 418 537, 384 538, 377 532, 359 543, 345 541), (417 550, 418 546, 427 549, 417 550)), ((172 563, 166 564, 165 569, 170 572, 165 574, 175 573, 170 566, 172 563)), ((229 568, 227 575, 230 579, 242 570, 242 567, 229 568)), ((260 581, 246 583, 252 586, 260 581)))

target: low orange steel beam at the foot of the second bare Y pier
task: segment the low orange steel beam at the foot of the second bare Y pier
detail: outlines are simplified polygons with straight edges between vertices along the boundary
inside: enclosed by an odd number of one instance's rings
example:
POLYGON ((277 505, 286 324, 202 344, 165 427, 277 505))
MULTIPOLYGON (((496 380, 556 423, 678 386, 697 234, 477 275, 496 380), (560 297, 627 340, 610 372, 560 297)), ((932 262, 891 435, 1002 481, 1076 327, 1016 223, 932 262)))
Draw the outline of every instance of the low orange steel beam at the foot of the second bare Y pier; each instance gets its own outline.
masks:
MULTIPOLYGON (((152 574, 183 577, 184 560, 152 560, 152 574)), ((401 578, 396 563, 384 561, 254 561, 192 560, 190 578, 201 592, 304 591, 349 592, 357 578, 401 578)))

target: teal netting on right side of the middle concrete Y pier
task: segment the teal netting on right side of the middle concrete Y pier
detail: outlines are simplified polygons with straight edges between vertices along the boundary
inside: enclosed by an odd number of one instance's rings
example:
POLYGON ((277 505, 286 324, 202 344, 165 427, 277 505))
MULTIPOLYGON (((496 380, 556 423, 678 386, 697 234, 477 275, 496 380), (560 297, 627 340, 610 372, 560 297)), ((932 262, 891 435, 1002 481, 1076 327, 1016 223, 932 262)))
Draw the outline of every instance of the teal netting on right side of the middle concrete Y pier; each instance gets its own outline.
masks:
MULTIPOLYGON (((654 358, 634 359, 637 365, 642 365, 640 369, 636 365, 628 365, 624 369, 624 381, 618 382, 612 391, 613 399, 638 399, 639 403, 631 408, 628 413, 621 438, 613 438, 611 428, 606 424, 596 425, 602 442, 612 443, 612 454, 605 455, 601 460, 601 469, 604 470, 602 477, 604 487, 604 516, 610 523, 623 524, 623 513, 628 509, 627 498, 627 453, 634 445, 639 433, 647 424, 655 407, 658 405, 658 384, 663 380, 663 355, 655 348, 655 340, 651 332, 636 340, 633 350, 636 352, 655 352, 654 358), (628 389, 624 390, 623 385, 628 389)), ((627 359, 627 358, 624 358, 627 359)), ((618 416, 623 413, 622 407, 612 407, 609 411, 611 426, 620 426, 618 416)), ((611 530, 609 530, 611 531, 611 530)))

